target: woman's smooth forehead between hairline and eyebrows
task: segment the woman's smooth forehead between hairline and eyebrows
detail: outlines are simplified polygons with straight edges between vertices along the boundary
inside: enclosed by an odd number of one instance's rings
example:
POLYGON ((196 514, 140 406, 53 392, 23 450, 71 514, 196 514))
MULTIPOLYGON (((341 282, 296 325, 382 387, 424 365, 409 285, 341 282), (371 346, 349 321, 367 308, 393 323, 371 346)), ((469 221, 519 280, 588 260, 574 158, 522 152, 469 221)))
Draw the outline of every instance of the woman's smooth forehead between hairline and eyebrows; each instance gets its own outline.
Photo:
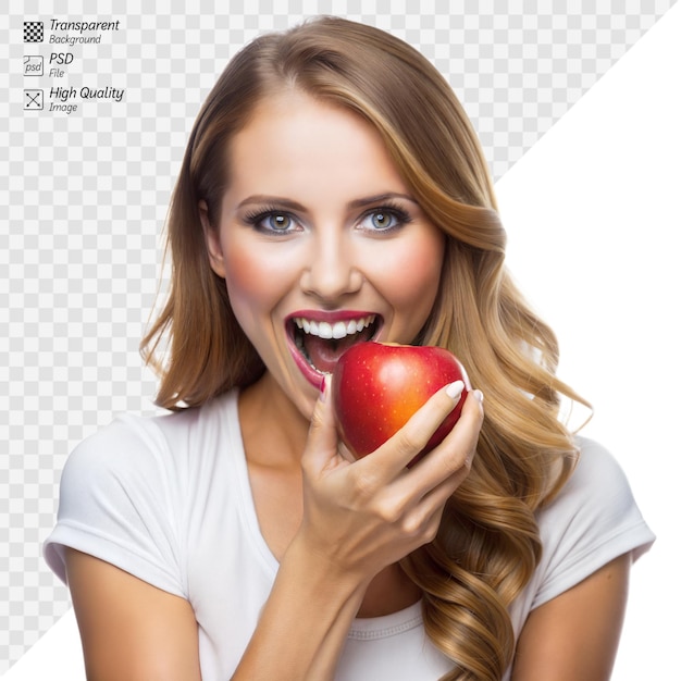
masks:
POLYGON ((262 100, 227 148, 230 190, 299 195, 407 187, 359 114, 296 90, 262 100))

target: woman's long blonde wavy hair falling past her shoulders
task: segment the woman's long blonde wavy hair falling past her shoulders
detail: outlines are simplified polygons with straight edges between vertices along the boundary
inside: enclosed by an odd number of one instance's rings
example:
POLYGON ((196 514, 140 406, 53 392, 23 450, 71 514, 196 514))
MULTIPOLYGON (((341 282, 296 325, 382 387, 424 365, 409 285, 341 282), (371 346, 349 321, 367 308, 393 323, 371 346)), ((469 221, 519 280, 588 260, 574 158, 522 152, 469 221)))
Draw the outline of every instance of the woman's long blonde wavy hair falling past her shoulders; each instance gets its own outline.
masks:
POLYGON ((209 265, 198 205, 206 201, 214 224, 230 183, 225 145, 257 103, 286 88, 369 121, 446 235, 439 292, 413 342, 461 359, 485 394, 485 421, 436 540, 401 565, 423 591, 428 635, 453 660, 445 679, 498 680, 515 648, 508 606, 541 557, 534 513, 577 459, 560 401, 586 403, 556 377, 556 338, 504 267, 506 235, 476 135, 413 48, 374 27, 318 17, 257 38, 230 62, 194 125, 169 213, 171 288, 141 343, 160 373, 157 404, 199 406, 264 369, 209 265))

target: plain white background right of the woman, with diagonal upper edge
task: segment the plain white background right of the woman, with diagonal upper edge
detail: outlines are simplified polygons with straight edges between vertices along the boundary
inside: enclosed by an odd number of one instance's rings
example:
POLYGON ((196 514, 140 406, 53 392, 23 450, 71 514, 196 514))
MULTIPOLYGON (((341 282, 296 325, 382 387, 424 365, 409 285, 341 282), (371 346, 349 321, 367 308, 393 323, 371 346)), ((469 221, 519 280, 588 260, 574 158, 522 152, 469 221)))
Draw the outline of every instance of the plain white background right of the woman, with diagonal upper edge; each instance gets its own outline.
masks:
POLYGON ((616 681, 680 679, 681 7, 499 181, 508 262, 595 407, 658 540, 632 571, 616 681))

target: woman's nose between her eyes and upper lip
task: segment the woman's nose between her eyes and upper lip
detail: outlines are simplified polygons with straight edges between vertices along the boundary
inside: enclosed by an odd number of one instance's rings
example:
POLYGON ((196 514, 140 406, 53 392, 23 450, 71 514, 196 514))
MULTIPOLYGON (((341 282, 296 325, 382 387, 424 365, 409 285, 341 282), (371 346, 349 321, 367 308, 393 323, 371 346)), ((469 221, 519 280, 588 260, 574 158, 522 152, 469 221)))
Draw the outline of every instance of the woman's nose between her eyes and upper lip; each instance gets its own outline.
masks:
POLYGON ((320 230, 311 240, 309 259, 300 277, 302 290, 333 305, 357 293, 363 275, 358 269, 356 247, 344 230, 320 230))

